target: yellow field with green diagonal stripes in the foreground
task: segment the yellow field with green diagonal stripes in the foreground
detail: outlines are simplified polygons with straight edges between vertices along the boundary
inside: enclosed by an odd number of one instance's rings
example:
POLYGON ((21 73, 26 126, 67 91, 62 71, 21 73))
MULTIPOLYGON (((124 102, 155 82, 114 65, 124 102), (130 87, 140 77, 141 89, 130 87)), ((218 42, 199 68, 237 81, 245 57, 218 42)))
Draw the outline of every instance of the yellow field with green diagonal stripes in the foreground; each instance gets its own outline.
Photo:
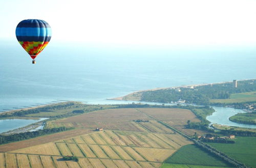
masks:
MULTIPOLYGON (((180 135, 176 136, 179 136, 179 139, 185 143, 184 145, 191 144, 191 142, 187 141, 184 137, 180 135)), ((64 141, 56 141, 6 153, 0 153, 0 157, 5 158, 4 160, 7 167, 12 167, 17 164, 24 165, 24 167, 29 164, 31 164, 32 167, 53 167, 53 165, 57 167, 76 167, 81 165, 87 165, 88 167, 118 167, 118 165, 122 167, 158 167, 161 162, 169 157, 169 155, 181 147, 168 146, 168 139, 169 137, 159 133, 136 132, 136 134, 134 134, 133 131, 106 130, 79 135, 65 139, 64 141), (161 144, 161 147, 148 147, 145 143, 142 143, 142 139, 140 138, 142 135, 147 139, 147 141, 150 139, 153 143, 161 144), (74 141, 74 139, 81 140, 86 136, 94 138, 91 138, 91 140, 87 142, 74 141), (95 137, 98 138, 97 141, 94 140, 95 137), (103 137, 112 140, 116 138, 116 141, 113 140, 114 144, 109 145, 103 137), (126 139, 126 141, 124 139, 126 139), (133 141, 129 141, 129 143, 127 143, 127 139, 133 139, 133 141), (66 155, 77 156, 79 158, 79 162, 76 163, 60 159, 61 156, 66 155)), ((180 142, 177 142, 177 144, 178 143, 180 142)))

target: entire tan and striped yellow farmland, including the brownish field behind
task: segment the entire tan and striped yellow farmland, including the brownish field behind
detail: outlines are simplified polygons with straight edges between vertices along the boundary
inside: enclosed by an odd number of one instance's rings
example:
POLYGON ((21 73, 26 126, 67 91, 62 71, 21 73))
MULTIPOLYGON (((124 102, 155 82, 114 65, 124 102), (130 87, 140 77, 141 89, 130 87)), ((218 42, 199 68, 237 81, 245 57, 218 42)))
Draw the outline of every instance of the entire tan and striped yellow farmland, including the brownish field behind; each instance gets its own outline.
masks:
POLYGON ((188 132, 189 129, 184 129, 187 120, 199 121, 190 110, 174 108, 104 109, 51 120, 48 128, 61 125, 76 129, 2 145, 0 165, 160 167, 170 155, 193 144, 146 114, 188 132), (147 122, 135 122, 138 119, 147 122), (96 127, 104 130, 94 131, 96 127), (63 160, 62 156, 67 155, 77 156, 79 161, 63 160))

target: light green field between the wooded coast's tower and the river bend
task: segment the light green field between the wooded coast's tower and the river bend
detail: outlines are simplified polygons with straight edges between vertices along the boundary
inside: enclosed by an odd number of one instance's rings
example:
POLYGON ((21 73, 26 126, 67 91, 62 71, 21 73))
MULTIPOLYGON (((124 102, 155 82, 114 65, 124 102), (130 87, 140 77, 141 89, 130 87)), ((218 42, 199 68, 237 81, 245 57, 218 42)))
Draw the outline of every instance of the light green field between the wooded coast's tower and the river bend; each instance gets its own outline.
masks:
POLYGON ((241 103, 256 101, 256 92, 234 93, 229 99, 211 99, 211 103, 241 103))

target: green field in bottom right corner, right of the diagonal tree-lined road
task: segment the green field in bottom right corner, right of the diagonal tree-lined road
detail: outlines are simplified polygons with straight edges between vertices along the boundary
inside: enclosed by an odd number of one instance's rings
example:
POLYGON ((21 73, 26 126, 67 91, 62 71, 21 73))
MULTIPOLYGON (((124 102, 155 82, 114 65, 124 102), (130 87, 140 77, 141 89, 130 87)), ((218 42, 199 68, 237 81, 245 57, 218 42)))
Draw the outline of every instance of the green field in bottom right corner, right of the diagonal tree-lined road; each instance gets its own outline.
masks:
POLYGON ((226 155, 245 163, 250 167, 256 167, 256 137, 237 137, 232 139, 234 144, 207 143, 224 152, 226 155))

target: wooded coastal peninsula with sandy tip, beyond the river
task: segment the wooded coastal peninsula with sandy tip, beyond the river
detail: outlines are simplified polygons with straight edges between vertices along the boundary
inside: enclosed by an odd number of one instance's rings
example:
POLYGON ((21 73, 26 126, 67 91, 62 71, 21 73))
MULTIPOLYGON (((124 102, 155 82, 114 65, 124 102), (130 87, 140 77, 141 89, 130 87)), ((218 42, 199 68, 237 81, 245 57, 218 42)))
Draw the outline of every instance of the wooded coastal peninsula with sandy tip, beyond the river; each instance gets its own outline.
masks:
POLYGON ((256 101, 256 79, 239 80, 238 87, 233 87, 233 82, 218 82, 218 83, 204 83, 201 85, 189 85, 168 88, 155 88, 149 90, 136 91, 125 96, 110 98, 107 100, 127 100, 127 101, 145 101, 145 102, 159 102, 172 103, 178 102, 180 99, 186 100, 186 103, 195 103, 198 105, 208 104, 230 104, 239 102, 256 101), (206 90, 209 90, 208 92, 206 90), (252 95, 248 93, 252 92, 252 95), (245 93, 243 95, 232 95, 237 93, 245 93), (247 95, 246 95, 247 93, 247 95), (202 95, 205 100, 196 100, 195 96, 202 95), (166 95, 173 95, 173 97, 166 97, 166 95), (194 99, 186 100, 186 95, 194 97, 194 99), (155 96, 155 97, 153 97, 155 96), (239 97, 240 96, 240 97, 239 97), (241 100, 241 97, 244 99, 241 100), (232 99, 232 102, 225 102, 225 100, 232 99), (205 104, 206 103, 206 104, 205 104))

